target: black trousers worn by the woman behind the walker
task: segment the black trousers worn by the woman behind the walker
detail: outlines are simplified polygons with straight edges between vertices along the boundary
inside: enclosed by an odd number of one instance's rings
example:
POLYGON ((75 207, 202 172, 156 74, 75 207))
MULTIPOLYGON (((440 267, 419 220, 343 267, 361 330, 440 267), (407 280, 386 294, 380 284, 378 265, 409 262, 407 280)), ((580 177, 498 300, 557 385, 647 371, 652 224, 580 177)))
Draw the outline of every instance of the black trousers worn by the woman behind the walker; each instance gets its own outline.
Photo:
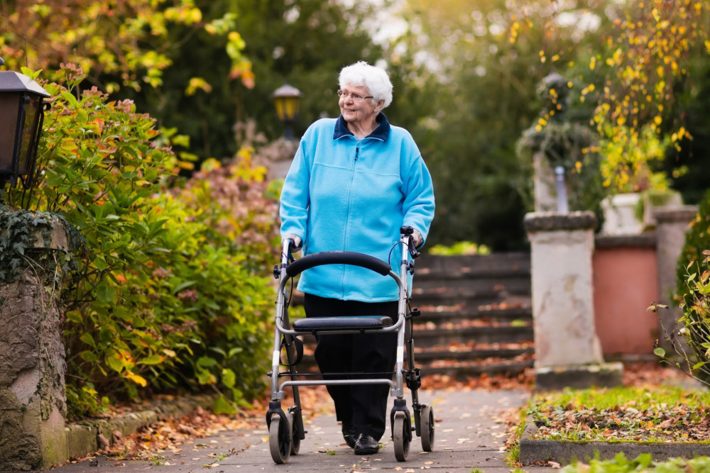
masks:
MULTIPOLYGON (((307 317, 389 316, 398 318, 398 302, 341 301, 304 295, 307 317)), ((391 378, 357 373, 393 372, 397 352, 397 334, 356 333, 319 335, 315 360, 324 379, 357 379, 358 377, 391 378), (328 376, 328 373, 355 373, 328 376)), ((380 440, 386 430, 389 386, 386 384, 351 384, 327 386, 335 404, 337 420, 350 422, 356 434, 371 435, 380 440)))

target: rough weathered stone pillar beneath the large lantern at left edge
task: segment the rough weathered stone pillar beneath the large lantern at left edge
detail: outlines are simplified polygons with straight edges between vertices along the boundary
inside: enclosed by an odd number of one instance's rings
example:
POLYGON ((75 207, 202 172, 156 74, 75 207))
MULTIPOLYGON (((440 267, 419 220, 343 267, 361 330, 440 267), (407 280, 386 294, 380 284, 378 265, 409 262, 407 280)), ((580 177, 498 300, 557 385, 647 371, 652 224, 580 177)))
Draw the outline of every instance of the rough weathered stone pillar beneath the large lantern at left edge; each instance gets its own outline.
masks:
MULTIPOLYGON (((55 224, 34 246, 25 255, 67 250, 64 229, 55 224)), ((49 469, 67 460, 65 350, 46 276, 28 267, 15 282, 0 282, 0 471, 49 469)))

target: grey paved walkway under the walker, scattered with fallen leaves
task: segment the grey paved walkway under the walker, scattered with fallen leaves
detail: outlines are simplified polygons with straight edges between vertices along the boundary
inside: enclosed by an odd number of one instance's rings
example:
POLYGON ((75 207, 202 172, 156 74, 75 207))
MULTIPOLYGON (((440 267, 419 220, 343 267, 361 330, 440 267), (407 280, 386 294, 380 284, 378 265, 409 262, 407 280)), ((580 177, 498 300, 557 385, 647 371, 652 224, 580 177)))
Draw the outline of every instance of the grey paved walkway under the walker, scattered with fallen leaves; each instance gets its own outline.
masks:
MULTIPOLYGON (((407 394, 409 394, 407 392, 407 394)), ((420 391, 420 400, 432 404, 437 419, 433 452, 422 452, 421 439, 416 435, 410 445, 406 462, 395 460, 393 445, 387 434, 376 455, 354 455, 340 433, 334 415, 309 417, 303 406, 307 434, 300 452, 287 464, 274 464, 268 449, 266 421, 263 430, 231 430, 212 437, 186 443, 178 452, 155 452, 163 457, 157 461, 111 460, 97 457, 77 464, 53 469, 55 473, 79 472, 414 472, 431 469, 436 472, 510 472, 503 448, 505 425, 496 418, 508 408, 523 406, 529 394, 524 391, 420 391)), ((407 399, 408 406, 411 399, 407 399)), ((410 406, 409 406, 410 407, 410 406)), ((411 408, 411 407, 410 407, 411 408)), ((549 467, 526 467, 525 472, 550 472, 549 467)))

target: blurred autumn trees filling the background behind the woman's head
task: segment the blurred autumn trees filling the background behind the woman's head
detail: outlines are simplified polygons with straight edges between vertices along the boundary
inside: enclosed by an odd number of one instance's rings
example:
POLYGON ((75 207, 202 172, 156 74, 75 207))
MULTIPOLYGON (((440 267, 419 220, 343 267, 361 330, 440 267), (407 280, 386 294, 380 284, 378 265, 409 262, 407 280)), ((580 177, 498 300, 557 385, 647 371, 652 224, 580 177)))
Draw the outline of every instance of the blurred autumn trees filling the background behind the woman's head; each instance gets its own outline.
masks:
POLYGON ((51 78, 60 62, 82 63, 88 82, 189 137, 175 150, 198 163, 234 156, 249 141, 248 121, 267 141, 283 135, 270 95, 284 82, 304 94, 298 136, 337 115, 342 66, 383 65, 395 85, 388 118, 413 133, 435 179, 434 244, 526 247, 531 169, 515 143, 538 123, 537 87, 551 72, 572 85, 569 120, 651 123, 673 136, 652 171, 685 201, 699 201, 710 178, 707 0, 45 0, 1 9, 9 67, 51 78))

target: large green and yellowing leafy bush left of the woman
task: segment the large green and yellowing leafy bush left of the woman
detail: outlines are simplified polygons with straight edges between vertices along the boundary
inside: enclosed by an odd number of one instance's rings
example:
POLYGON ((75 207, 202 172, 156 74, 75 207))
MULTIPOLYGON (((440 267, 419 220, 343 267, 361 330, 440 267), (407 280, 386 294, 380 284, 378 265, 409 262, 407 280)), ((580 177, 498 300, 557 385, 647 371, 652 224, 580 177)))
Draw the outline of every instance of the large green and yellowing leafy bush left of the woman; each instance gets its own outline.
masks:
MULTIPOLYGON (((214 386, 236 402, 261 389, 278 242, 264 169, 246 151, 183 183, 190 164, 153 118, 96 89, 80 94, 79 68, 60 77, 45 85, 54 99, 37 187, 7 200, 61 213, 85 239, 63 294, 70 413, 171 389, 214 386)), ((228 397, 220 411, 233 408, 228 397)))

